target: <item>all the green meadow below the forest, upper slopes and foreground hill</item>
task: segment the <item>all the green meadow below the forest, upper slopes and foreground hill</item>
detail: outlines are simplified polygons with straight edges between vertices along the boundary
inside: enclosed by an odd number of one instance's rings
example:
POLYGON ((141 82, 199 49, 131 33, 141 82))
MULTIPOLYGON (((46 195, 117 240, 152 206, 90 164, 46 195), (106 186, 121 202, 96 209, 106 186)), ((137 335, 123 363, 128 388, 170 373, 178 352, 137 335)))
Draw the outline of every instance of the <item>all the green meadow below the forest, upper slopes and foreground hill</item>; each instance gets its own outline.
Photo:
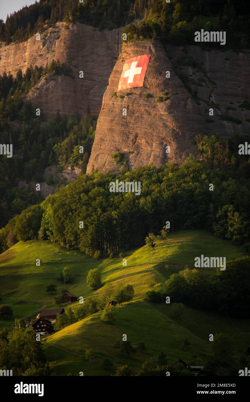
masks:
MULTIPOLYGON (((13 309, 13 317, 1 320, 0 328, 11 326, 14 318, 26 317, 26 322, 35 318, 41 309, 55 308, 54 294, 46 293, 50 283, 57 285, 61 293, 64 284, 57 281, 57 275, 64 267, 69 267, 72 282, 67 289, 75 295, 98 296, 86 285, 89 269, 98 268, 102 282, 119 282, 134 285, 134 299, 131 303, 116 307, 116 317, 112 324, 100 320, 100 312, 55 332, 43 340, 46 357, 54 375, 110 375, 118 365, 128 364, 137 373, 142 362, 163 351, 170 364, 178 359, 187 363, 202 365, 209 354, 209 334, 225 332, 232 336, 237 365, 244 349, 249 344, 249 320, 231 320, 229 317, 185 308, 183 318, 177 321, 167 304, 154 304, 145 300, 148 290, 161 290, 166 279, 188 265, 194 267, 196 256, 226 256, 227 260, 239 258, 242 250, 227 240, 218 239, 205 230, 183 230, 171 232, 167 240, 157 240, 151 252, 146 246, 125 252, 127 266, 116 256, 112 259, 93 260, 80 251, 67 250, 48 241, 19 242, 0 255, 0 295, 1 304, 13 309), (152 263, 151 263, 152 256, 152 263), (41 259, 37 267, 36 259, 41 259), (167 267, 166 267, 167 265, 167 267), (145 353, 137 353, 126 358, 114 347, 123 334, 137 349, 139 342, 146 345, 145 353), (185 338, 190 345, 184 347, 185 338), (85 360, 85 349, 94 351, 91 364, 85 360), (104 370, 103 359, 110 359, 114 366, 104 370)), ((215 269, 202 269, 211 275, 215 269)), ((73 309, 79 302, 73 304, 73 309)), ((64 306, 66 309, 71 305, 64 306)))

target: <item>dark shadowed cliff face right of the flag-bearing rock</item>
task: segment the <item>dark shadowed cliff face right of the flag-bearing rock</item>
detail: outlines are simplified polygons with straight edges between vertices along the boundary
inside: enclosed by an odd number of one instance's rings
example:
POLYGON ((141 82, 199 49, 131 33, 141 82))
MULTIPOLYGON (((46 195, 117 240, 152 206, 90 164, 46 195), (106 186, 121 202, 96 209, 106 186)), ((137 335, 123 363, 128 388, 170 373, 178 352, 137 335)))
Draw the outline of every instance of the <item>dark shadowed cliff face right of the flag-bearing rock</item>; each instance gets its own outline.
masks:
POLYGON ((249 50, 242 53, 232 50, 208 52, 199 46, 183 48, 169 45, 166 51, 177 75, 182 79, 184 77, 186 86, 196 90, 200 99, 210 103, 208 106, 201 100, 201 105, 198 105, 209 134, 217 132, 222 137, 228 137, 232 131, 241 134, 249 132, 250 124, 246 119, 250 119, 250 111, 240 107, 244 100, 250 99, 249 50), (200 67, 183 66, 180 62, 183 57, 196 60, 200 67), (213 107, 213 102, 217 107, 213 107), (213 108, 213 116, 209 116, 210 107, 213 108), (224 121, 220 115, 238 119, 241 123, 224 121))

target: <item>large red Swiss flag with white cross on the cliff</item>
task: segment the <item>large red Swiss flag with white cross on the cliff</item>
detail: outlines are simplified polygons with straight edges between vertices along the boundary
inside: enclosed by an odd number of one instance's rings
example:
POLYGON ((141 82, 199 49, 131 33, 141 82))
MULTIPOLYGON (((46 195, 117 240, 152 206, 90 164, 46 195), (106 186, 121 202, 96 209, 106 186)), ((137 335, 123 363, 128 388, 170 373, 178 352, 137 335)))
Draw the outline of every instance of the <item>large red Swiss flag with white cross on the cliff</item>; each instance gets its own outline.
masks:
POLYGON ((123 65, 118 91, 121 89, 132 88, 133 86, 143 86, 150 57, 150 54, 144 54, 126 60, 123 65))

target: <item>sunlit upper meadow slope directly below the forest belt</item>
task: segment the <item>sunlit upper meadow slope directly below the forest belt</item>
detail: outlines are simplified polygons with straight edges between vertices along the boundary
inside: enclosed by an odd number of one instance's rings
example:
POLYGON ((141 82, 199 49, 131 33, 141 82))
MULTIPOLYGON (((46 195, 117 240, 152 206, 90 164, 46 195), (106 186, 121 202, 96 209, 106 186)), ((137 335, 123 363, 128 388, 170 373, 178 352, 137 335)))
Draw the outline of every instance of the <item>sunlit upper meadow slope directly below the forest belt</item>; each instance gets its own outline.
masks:
MULTIPOLYGON (((66 266, 70 268, 72 277, 67 289, 78 297, 88 297, 93 293, 86 285, 86 275, 89 269, 98 268, 104 283, 132 283, 134 300, 140 300, 146 291, 161 289, 164 281, 184 265, 193 267, 195 256, 201 254, 226 256, 227 260, 242 256, 239 247, 215 238, 205 230, 172 232, 164 242, 157 241, 152 252, 146 246, 126 252, 125 267, 118 256, 93 260, 80 251, 67 250, 49 241, 18 242, 0 255, 1 303, 9 304, 14 314, 9 320, 1 320, 0 328, 13 324, 15 317, 28 315, 34 318, 37 315, 34 312, 43 306, 53 308, 53 295, 46 293, 46 286, 53 283, 57 285, 57 293, 61 292, 64 284, 57 281, 57 275, 66 266), (41 260, 40 267, 35 264, 37 258, 41 260)), ((213 269, 204 271, 210 275, 213 269)), ((95 294, 98 295, 98 291, 95 294)))

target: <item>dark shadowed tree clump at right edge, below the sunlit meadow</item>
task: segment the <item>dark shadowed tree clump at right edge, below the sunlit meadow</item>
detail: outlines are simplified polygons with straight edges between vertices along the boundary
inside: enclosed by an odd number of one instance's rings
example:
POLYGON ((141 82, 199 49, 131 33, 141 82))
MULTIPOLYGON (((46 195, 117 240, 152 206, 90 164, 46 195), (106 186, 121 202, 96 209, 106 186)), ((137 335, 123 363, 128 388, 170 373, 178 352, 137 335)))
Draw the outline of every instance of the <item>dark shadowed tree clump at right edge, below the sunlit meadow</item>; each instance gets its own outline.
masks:
POLYGON ((195 308, 209 308, 221 314, 246 318, 250 316, 249 281, 250 257, 245 256, 228 261, 225 271, 218 268, 211 280, 197 269, 175 273, 165 282, 164 296, 169 296, 174 304, 183 302, 195 308))

